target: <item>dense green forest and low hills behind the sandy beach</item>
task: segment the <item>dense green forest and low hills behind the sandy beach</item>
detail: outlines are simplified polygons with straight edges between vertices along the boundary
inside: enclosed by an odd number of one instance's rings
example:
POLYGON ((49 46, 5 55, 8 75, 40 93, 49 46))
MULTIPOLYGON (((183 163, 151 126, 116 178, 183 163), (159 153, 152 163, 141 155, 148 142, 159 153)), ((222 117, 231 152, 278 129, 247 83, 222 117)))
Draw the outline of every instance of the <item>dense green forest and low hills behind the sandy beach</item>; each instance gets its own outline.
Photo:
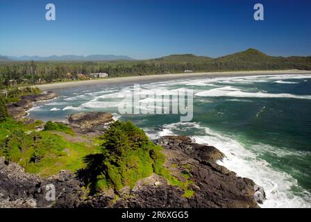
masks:
POLYGON ((208 72, 277 69, 311 70, 311 56, 275 57, 256 49, 248 49, 219 58, 185 54, 151 60, 3 61, 0 62, 0 80, 3 87, 89 79, 89 74, 100 72, 107 73, 109 77, 120 77, 174 74, 185 70, 208 72))

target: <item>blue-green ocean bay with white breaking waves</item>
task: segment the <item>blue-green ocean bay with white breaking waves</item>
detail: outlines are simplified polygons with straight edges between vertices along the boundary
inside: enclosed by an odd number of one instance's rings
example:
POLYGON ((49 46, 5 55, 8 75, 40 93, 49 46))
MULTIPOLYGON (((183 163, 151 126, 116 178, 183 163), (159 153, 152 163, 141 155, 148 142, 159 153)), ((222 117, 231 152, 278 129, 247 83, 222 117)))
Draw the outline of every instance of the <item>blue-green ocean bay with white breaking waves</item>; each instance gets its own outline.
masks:
POLYGON ((106 111, 130 119, 151 139, 189 135, 222 151, 226 158, 219 164, 264 187, 261 207, 311 207, 310 74, 189 78, 140 87, 193 89, 192 121, 181 123, 178 114, 119 114, 120 92, 133 92, 133 84, 56 89, 60 96, 36 103, 29 117, 62 121, 75 112, 106 111))

